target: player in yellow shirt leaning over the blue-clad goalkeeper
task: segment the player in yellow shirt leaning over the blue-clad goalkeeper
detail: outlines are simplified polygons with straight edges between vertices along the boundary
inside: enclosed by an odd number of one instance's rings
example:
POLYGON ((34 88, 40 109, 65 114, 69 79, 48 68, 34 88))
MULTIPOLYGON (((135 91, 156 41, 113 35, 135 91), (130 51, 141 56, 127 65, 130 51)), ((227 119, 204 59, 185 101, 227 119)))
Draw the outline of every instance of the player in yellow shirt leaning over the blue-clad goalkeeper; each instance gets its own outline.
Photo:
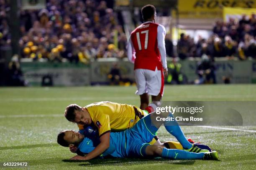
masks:
MULTIPOLYGON (((94 125, 98 129, 100 143, 88 154, 90 159, 102 154, 108 148, 110 143, 110 130, 122 131, 131 128, 145 115, 147 115, 146 112, 136 106, 108 101, 92 103, 85 107, 72 104, 68 105, 65 110, 65 117, 67 120, 77 123, 79 130, 84 129, 87 125, 94 125)), ((155 136, 152 141, 148 143, 166 148, 185 148, 193 151, 192 145, 184 137, 180 128, 175 134, 177 136, 180 135, 181 137, 179 138, 185 139, 186 142, 174 143, 172 141, 167 141, 162 144, 157 136, 155 136)), ((175 137, 178 138, 177 136, 175 137)), ((199 147, 202 148, 201 146, 199 147)), ((74 153, 80 153, 75 146, 70 147, 70 150, 74 153)))

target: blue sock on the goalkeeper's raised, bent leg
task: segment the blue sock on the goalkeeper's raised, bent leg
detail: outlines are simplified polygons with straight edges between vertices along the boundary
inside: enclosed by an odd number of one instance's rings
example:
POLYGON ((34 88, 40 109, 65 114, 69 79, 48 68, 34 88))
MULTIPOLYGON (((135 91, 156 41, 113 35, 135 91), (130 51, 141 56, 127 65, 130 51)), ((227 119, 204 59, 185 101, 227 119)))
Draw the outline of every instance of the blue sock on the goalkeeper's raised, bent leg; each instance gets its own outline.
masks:
MULTIPOLYGON (((172 113, 169 114, 169 117, 173 117, 172 113)), ((176 120, 164 123, 164 127, 171 135, 174 135, 184 149, 189 149, 192 147, 192 144, 187 141, 187 138, 176 120)))

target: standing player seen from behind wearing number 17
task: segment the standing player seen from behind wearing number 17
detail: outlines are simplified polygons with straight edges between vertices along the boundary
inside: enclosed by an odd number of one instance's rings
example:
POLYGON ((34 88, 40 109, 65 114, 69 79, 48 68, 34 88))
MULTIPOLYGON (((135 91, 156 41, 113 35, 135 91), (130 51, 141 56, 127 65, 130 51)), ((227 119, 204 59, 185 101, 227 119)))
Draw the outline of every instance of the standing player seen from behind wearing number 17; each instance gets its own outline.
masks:
POLYGON ((156 8, 146 5, 141 8, 144 23, 131 33, 128 42, 128 59, 134 63, 137 83, 136 94, 140 95, 142 110, 152 112, 161 105, 164 92, 164 76, 167 76, 166 50, 163 25, 156 24, 156 8), (149 96, 152 102, 149 104, 149 96))

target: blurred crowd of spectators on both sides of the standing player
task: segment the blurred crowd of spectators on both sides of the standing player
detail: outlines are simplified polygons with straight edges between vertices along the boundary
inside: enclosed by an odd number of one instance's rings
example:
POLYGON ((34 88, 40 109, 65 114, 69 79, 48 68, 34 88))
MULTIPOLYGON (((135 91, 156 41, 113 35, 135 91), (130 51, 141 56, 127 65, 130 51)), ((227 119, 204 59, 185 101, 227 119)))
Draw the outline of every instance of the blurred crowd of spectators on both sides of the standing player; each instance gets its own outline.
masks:
MULTIPOLYGON (((10 7, 5 0, 0 0, 0 9, 0 46, 10 45, 10 7)), ((200 37, 198 42, 182 34, 177 44, 178 57, 206 54, 241 60, 249 56, 256 58, 256 15, 249 19, 243 16, 239 22, 232 18, 226 23, 218 21, 212 32, 209 39, 200 37)), ((49 0, 46 9, 21 10, 20 35, 23 58, 87 63, 102 57, 126 57, 127 39, 123 27, 113 11, 113 4, 104 0, 49 0)), ((172 54, 170 57, 175 56, 172 54)))

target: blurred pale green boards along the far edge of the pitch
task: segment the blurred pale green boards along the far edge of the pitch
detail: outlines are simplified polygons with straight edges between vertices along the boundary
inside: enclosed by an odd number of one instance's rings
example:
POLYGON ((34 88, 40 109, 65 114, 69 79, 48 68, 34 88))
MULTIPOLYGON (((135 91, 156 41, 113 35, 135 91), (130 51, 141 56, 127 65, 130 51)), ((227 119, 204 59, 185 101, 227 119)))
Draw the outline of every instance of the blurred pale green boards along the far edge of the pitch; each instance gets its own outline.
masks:
MULTIPOLYGON (((197 79, 196 68, 199 59, 181 60, 182 73, 189 81, 197 79)), ((168 60, 168 63, 172 62, 168 60)), ((123 78, 134 80, 133 64, 127 60, 107 58, 97 60, 91 64, 69 62, 22 62, 21 68, 25 80, 32 86, 42 85, 44 77, 50 77, 54 86, 83 86, 108 84, 108 73, 111 67, 118 63, 123 78)), ((223 83, 223 76, 230 77, 231 83, 256 83, 255 60, 225 60, 217 59, 217 83, 223 83)))

